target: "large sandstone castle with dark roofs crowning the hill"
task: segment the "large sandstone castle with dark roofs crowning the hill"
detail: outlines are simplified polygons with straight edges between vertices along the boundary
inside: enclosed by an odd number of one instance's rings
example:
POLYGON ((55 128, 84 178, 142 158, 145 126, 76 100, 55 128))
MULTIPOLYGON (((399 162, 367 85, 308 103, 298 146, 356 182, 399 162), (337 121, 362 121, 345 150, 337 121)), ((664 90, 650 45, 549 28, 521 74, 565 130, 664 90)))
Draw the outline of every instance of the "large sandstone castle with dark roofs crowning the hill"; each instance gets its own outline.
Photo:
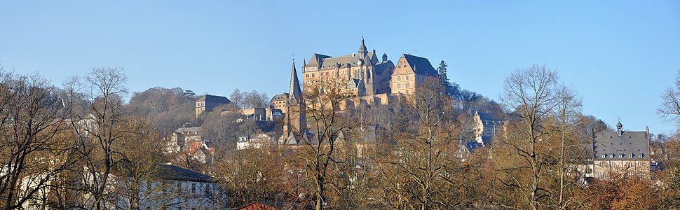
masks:
POLYGON ((415 92, 432 78, 437 78, 437 71, 427 58, 402 54, 395 65, 387 54, 379 59, 376 50, 367 50, 364 38, 358 53, 339 57, 314 53, 302 72, 303 90, 339 80, 346 83, 345 92, 367 104, 389 104, 391 97, 415 92))

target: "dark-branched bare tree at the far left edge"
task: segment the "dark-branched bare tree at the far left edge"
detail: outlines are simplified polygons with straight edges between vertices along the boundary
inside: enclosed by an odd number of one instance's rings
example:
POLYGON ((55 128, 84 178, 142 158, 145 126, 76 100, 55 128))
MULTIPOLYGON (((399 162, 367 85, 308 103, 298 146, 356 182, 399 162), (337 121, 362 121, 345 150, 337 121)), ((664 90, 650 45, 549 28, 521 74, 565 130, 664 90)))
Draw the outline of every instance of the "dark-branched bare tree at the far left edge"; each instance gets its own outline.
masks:
MULTIPOLYGON (((46 201, 48 188, 75 160, 65 139, 64 110, 55 87, 38 74, 0 69, 0 204, 21 208, 46 201), (62 159, 63 158, 63 159, 62 159)), ((44 204, 45 202, 43 202, 44 204)))

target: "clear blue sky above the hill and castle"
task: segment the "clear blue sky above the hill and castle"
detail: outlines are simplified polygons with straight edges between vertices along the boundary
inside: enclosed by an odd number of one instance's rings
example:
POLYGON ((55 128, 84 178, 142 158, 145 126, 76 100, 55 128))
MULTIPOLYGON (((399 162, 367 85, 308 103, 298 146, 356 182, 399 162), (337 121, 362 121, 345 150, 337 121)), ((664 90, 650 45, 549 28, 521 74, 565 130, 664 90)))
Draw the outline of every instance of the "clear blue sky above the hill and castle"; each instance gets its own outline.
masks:
POLYGON ((680 1, 0 1, 0 64, 61 84, 121 66, 130 92, 287 90, 314 52, 361 36, 393 61, 449 64, 449 78, 498 100, 503 78, 557 69, 583 111, 624 129, 669 132, 655 113, 680 69, 680 1))

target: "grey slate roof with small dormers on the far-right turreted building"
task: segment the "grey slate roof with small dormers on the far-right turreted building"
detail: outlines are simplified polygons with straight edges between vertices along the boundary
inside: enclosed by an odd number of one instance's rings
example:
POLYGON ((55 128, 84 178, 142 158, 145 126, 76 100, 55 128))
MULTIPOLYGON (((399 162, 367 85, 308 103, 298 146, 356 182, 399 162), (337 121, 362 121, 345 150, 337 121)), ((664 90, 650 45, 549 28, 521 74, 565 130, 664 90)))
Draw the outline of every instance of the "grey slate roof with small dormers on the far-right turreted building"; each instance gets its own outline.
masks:
POLYGON ((594 160, 649 160, 647 135, 647 132, 623 131, 620 135, 618 131, 597 132, 593 143, 594 160))

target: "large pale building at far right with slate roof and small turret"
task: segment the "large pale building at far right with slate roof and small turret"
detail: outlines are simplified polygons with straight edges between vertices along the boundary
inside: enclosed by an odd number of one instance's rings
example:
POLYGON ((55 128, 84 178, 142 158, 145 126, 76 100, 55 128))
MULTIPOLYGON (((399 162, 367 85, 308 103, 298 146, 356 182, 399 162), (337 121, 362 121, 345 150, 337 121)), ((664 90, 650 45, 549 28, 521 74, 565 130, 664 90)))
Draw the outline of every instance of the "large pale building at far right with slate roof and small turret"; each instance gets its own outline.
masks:
POLYGON ((650 176, 649 127, 644 132, 623 131, 619 122, 615 132, 597 132, 592 147, 595 178, 608 179, 611 173, 650 176))

